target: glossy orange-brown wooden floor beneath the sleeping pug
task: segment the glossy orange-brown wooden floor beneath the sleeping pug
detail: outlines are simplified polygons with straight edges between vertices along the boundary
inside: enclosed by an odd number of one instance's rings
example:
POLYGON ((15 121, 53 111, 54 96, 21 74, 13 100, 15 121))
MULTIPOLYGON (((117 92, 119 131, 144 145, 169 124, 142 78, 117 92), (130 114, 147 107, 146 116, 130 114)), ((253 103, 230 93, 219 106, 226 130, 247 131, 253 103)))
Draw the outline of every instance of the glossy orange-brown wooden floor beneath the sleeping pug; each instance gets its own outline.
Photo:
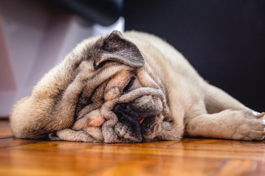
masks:
POLYGON ((0 120, 0 176, 265 176, 265 141, 22 140, 0 120))

